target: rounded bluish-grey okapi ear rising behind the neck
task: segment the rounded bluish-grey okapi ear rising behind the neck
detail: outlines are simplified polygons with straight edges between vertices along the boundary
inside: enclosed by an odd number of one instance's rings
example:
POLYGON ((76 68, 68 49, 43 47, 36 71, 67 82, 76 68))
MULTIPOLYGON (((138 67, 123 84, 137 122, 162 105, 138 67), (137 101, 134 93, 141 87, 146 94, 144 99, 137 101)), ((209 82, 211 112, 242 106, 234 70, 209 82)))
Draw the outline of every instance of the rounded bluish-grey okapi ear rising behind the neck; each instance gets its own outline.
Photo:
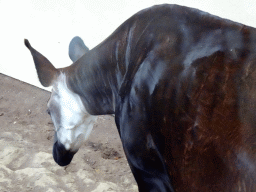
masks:
POLYGON ((74 37, 69 43, 68 54, 73 62, 76 62, 88 51, 89 48, 86 47, 84 41, 78 36, 74 37))

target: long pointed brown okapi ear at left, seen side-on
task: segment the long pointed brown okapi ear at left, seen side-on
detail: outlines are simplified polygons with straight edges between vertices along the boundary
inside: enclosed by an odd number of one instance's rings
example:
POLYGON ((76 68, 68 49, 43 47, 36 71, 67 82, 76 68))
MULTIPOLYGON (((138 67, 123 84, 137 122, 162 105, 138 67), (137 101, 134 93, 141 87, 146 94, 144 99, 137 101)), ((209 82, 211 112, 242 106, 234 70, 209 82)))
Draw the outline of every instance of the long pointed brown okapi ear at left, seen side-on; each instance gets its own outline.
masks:
POLYGON ((27 39, 25 39, 24 42, 26 47, 30 50, 31 55, 33 56, 40 83, 44 87, 51 86, 56 75, 58 74, 58 70, 51 64, 51 62, 45 56, 36 51, 30 45, 27 39))

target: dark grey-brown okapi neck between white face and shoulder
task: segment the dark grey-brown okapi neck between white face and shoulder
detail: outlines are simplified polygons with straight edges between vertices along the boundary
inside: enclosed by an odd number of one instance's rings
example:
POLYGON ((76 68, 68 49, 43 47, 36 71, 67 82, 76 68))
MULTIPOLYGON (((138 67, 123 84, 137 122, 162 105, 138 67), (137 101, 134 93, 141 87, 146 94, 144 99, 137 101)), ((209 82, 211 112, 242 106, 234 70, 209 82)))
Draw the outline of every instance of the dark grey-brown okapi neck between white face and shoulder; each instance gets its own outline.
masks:
POLYGON ((100 48, 93 49, 63 69, 69 89, 81 97, 91 115, 113 114, 115 111, 118 82, 116 65, 110 57, 100 48))

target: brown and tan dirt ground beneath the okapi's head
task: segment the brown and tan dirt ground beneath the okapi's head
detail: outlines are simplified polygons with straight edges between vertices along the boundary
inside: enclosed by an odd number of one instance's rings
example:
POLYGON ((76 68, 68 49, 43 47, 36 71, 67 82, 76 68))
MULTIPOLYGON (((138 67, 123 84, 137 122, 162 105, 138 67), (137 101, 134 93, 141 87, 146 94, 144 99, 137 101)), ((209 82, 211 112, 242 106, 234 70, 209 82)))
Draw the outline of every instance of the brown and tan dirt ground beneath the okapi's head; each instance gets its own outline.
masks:
POLYGON ((47 91, 0 74, 0 191, 138 191, 113 117, 98 118, 70 165, 54 162, 49 97, 47 91))

